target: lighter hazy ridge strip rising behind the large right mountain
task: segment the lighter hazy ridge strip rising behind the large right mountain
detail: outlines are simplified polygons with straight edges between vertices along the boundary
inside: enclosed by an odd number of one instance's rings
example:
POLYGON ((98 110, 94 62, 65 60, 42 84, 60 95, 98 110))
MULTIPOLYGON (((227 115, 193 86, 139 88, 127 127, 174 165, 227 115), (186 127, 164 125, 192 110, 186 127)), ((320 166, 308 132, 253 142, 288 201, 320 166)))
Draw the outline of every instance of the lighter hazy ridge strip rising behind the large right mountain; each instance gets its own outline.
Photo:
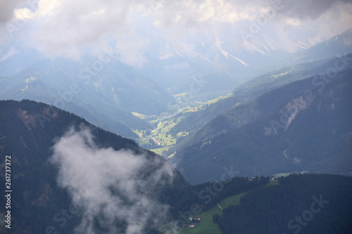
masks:
MULTIPOLYGON (((184 115, 184 119, 170 129, 170 133, 175 136, 182 131, 195 132, 223 112, 227 111, 225 115, 231 115, 229 113, 236 111, 235 107, 239 104, 251 102, 264 93, 278 89, 291 82, 325 73, 329 67, 334 67, 337 61, 339 61, 339 65, 344 65, 345 70, 352 68, 351 57, 352 55, 350 54, 346 56, 345 59, 343 58, 343 61, 339 60, 339 58, 329 58, 313 63, 299 64, 294 67, 283 67, 279 70, 268 72, 260 77, 251 79, 249 82, 245 82, 234 89, 233 96, 230 98, 220 100, 218 103, 212 105, 203 106, 199 108, 197 112, 182 114, 184 115)), ((177 149, 174 150, 174 152, 175 151, 177 151, 177 149)), ((170 150, 170 154, 172 154, 172 150, 170 150)))

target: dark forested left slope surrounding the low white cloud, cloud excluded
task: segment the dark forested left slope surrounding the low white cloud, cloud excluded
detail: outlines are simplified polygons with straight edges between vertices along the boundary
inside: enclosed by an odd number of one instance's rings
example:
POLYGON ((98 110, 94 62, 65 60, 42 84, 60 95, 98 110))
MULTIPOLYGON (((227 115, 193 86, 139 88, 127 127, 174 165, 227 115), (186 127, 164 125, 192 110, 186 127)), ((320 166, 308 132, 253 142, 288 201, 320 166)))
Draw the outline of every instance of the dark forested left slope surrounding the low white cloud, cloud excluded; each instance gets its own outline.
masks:
MULTIPOLYGON (((139 155, 141 160, 146 162, 146 165, 145 171, 139 171, 136 179, 150 181, 149 176, 152 175, 152 171, 157 171, 158 168, 164 167, 163 165, 166 163, 165 160, 153 152, 139 148, 134 141, 99 129, 69 112, 31 100, 21 102, 1 100, 0 181, 1 184, 5 185, 5 160, 6 155, 11 155, 11 189, 13 190, 11 197, 11 233, 45 233, 48 226, 54 226, 58 233, 73 233, 74 228, 82 221, 81 213, 73 217, 69 216, 70 218, 63 226, 61 226, 63 224, 61 221, 58 222, 54 219, 58 212, 60 213, 62 209, 67 209, 73 204, 68 188, 64 189, 58 186, 58 167, 49 162, 49 158, 53 154, 53 148, 51 147, 71 126, 74 126, 77 131, 81 126, 91 128, 94 144, 97 148, 111 147, 113 150, 132 150, 139 155)), ((103 171, 104 168, 97 166, 96 170, 103 171)), ((175 190, 175 187, 177 187, 180 191, 189 190, 189 193, 191 193, 189 183, 184 181, 175 170, 173 170, 172 178, 163 178, 161 181, 153 182, 153 184, 155 184, 153 194, 144 193, 144 195, 153 197, 151 199, 160 200, 164 204, 170 204, 170 211, 179 210, 177 202, 182 203, 182 199, 176 200, 173 197, 174 194, 172 196, 168 195, 170 190, 175 190)), ((119 195, 123 193, 123 190, 112 190, 111 193, 119 195)), ((180 193, 185 194, 184 192, 180 193)), ((4 195, 4 190, 1 190, 1 204, 6 204, 4 195)), ((127 202, 126 205, 128 204, 127 202)), ((5 206, 1 205, 1 216, 4 212, 6 212, 5 206)), ((169 218, 165 216, 165 219, 169 218)), ((99 219, 96 222, 96 231, 103 230, 99 229, 99 219)), ((126 226, 126 220, 115 220, 114 225, 123 230, 126 226)), ((151 224, 150 227, 153 227, 153 225, 151 224)), ((7 232, 3 225, 1 225, 1 228, 3 228, 0 229, 1 233, 7 232)), ((121 231, 121 233, 123 232, 121 231)))

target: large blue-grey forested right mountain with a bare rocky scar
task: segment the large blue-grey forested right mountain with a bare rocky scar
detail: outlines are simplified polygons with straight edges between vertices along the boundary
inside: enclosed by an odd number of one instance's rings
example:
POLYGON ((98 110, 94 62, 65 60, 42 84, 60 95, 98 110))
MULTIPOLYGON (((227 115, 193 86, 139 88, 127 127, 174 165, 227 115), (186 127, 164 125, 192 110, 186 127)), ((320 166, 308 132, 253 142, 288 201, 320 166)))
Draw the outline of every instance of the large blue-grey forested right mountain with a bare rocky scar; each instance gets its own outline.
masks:
POLYGON ((351 75, 310 77, 238 105, 171 148, 172 161, 191 183, 214 180, 225 165, 239 176, 349 174, 351 75), (339 164, 329 164, 332 158, 339 164))

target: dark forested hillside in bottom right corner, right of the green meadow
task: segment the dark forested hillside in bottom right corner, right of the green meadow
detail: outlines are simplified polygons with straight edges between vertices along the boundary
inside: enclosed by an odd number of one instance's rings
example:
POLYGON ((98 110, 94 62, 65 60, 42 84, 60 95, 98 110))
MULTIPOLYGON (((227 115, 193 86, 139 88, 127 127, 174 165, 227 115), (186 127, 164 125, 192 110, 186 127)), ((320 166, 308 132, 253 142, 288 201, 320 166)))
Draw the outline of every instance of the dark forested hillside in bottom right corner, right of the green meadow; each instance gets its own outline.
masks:
POLYGON ((352 178, 326 174, 279 178, 279 186, 254 190, 224 209, 224 234, 351 233, 352 178))

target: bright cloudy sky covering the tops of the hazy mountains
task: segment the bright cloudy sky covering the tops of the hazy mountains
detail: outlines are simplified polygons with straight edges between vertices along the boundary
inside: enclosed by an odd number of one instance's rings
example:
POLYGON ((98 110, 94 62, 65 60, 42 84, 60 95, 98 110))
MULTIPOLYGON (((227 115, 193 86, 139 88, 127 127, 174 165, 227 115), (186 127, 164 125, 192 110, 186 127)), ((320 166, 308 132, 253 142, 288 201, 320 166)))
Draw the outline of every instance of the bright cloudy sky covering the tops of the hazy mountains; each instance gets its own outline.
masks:
MULTIPOLYGON (((0 46, 78 59, 110 44, 130 65, 152 45, 218 43, 296 51, 352 27, 347 0, 0 0, 0 46)), ((165 49, 159 56, 165 56, 165 49)), ((12 50, 12 54, 14 51, 12 50)), ((10 56, 6 54, 6 56, 10 56)), ((3 57, 4 58, 4 57, 3 57)))

